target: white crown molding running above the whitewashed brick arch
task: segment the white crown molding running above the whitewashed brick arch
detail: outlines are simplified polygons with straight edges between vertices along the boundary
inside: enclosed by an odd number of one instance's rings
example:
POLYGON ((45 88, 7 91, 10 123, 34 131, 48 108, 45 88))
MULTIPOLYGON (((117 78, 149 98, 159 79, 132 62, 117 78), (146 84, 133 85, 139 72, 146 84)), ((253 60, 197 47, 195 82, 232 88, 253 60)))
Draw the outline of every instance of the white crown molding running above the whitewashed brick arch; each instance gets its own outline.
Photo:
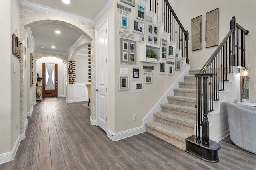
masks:
POLYGON ((20 2, 20 5, 22 5, 22 6, 26 6, 26 7, 30 7, 30 8, 50 12, 50 13, 57 14, 57 15, 60 15, 60 16, 74 18, 74 19, 84 21, 84 22, 88 22, 88 23, 94 23, 94 20, 92 20, 90 18, 86 18, 86 17, 82 17, 82 16, 78 16, 78 15, 69 13, 69 12, 64 12, 64 11, 61 11, 61 10, 57 10, 55 8, 50 8, 48 6, 36 4, 34 2, 30 2, 30 1, 27 1, 27 0, 19 0, 19 2, 20 2))

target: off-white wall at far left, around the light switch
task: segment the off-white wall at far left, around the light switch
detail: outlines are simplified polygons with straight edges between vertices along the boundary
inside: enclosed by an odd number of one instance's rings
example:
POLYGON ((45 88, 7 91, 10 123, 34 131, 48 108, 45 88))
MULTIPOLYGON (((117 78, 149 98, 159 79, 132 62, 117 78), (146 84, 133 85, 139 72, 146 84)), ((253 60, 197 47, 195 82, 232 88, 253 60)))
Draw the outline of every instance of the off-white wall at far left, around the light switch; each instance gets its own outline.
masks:
POLYGON ((20 134, 20 62, 12 54, 12 34, 20 35, 18 1, 0 1, 0 20, 0 154, 3 154, 12 151, 20 134))

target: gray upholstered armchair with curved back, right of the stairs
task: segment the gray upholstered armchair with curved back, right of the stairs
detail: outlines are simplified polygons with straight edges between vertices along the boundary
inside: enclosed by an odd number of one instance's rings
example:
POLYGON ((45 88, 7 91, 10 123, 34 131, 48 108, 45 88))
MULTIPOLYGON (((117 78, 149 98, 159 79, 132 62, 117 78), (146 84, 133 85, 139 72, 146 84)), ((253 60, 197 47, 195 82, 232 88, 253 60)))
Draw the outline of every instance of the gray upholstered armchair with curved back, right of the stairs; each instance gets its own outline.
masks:
POLYGON ((256 154, 256 108, 227 103, 231 141, 238 147, 256 154))

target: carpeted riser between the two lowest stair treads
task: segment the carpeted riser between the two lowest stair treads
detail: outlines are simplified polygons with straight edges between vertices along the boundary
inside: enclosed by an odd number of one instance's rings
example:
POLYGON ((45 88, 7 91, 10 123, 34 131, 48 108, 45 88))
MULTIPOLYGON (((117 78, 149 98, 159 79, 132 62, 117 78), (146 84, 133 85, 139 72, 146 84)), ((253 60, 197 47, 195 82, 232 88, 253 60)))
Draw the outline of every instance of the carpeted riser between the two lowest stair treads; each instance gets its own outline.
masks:
POLYGON ((167 121, 167 120, 164 120, 164 119, 160 119, 158 117, 154 117, 154 120, 159 122, 159 123, 162 123, 164 125, 167 125, 167 126, 170 126, 170 127, 175 127, 175 128, 179 128, 179 129, 182 129, 183 131, 186 131, 188 133, 191 133, 191 134, 194 134, 194 125, 181 125, 181 124, 178 124, 178 123, 175 123, 175 121, 167 121), (190 126, 190 127, 188 127, 190 126))

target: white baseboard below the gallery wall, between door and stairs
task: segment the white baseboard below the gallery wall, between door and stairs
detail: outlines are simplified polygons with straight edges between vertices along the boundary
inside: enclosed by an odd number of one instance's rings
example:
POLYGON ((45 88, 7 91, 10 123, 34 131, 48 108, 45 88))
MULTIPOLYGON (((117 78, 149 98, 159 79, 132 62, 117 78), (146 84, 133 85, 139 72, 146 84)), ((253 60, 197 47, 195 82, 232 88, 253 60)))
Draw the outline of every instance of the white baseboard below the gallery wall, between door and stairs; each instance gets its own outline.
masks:
POLYGON ((112 139, 113 141, 118 141, 127 137, 131 137, 134 135, 138 135, 140 133, 146 132, 146 127, 136 127, 134 129, 129 129, 127 131, 122 131, 118 133, 113 133, 112 131, 108 130, 108 137, 112 139))

